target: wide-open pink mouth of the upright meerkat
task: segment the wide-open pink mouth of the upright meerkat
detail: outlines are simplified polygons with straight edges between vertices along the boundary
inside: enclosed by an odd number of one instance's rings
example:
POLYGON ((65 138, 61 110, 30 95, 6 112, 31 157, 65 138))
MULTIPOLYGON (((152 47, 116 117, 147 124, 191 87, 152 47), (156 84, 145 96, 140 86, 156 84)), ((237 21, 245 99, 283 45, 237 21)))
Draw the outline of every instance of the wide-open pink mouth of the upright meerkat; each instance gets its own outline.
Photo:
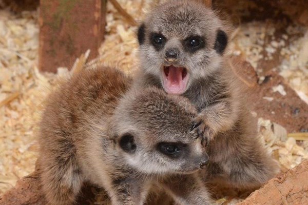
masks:
POLYGON ((188 82, 187 69, 184 67, 164 66, 164 89, 169 94, 183 94, 188 82))

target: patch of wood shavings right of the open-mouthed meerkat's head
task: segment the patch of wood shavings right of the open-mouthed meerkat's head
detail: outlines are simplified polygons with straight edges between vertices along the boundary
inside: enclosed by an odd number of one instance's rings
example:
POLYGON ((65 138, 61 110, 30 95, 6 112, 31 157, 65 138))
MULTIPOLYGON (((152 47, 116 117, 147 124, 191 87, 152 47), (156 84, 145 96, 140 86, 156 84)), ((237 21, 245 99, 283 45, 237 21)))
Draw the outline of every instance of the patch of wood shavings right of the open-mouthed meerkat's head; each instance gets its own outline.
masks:
POLYGON ((260 77, 264 70, 261 62, 273 61, 269 64, 273 67, 266 69, 277 69, 294 90, 308 96, 307 27, 285 26, 271 19, 241 24, 230 50, 233 55, 241 54, 260 77))

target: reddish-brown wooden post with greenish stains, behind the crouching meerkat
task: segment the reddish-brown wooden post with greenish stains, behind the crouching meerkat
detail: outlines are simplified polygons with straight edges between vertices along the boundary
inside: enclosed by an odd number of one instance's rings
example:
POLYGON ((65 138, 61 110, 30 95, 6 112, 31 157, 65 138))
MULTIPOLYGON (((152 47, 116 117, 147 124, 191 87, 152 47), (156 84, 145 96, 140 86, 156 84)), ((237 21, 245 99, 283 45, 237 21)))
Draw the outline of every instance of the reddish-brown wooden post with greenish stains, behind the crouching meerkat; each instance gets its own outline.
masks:
POLYGON ((102 22, 105 22, 102 0, 41 0, 40 8, 41 71, 70 69, 75 59, 88 49, 89 59, 98 55, 103 39, 102 22))

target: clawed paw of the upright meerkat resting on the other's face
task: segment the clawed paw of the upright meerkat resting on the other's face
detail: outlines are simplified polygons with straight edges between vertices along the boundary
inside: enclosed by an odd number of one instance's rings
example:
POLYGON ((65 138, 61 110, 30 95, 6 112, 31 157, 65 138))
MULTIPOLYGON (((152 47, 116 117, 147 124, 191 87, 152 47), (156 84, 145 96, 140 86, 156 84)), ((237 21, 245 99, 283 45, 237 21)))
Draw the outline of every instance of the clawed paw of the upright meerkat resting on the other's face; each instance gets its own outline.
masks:
POLYGON ((201 117, 192 121, 191 131, 197 129, 197 134, 202 137, 202 145, 206 146, 208 141, 215 137, 215 130, 211 128, 201 117))

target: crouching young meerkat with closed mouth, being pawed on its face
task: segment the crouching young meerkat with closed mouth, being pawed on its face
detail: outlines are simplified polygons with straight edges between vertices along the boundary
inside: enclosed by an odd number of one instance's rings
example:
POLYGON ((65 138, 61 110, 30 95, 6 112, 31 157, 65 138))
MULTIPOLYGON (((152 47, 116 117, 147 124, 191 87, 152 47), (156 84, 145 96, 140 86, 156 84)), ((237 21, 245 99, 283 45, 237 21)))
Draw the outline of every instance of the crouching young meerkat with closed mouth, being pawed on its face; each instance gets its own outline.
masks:
POLYGON ((73 204, 83 182, 104 188, 114 205, 143 204, 155 186, 179 204, 209 204, 199 171, 208 155, 190 130, 195 107, 130 84, 100 67, 73 75, 48 98, 38 140, 50 205, 73 204))

